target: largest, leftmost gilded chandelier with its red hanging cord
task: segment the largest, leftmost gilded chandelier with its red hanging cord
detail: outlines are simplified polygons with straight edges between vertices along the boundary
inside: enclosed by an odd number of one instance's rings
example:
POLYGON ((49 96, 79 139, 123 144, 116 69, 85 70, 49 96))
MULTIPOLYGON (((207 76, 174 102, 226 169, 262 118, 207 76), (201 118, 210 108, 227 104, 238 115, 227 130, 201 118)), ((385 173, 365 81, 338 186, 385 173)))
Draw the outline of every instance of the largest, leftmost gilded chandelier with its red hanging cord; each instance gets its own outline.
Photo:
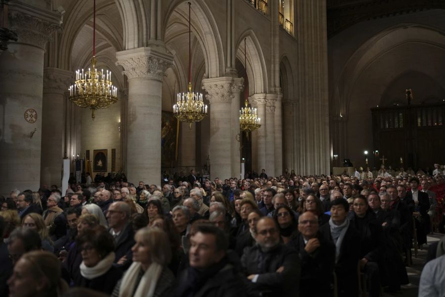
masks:
POLYGON ((111 82, 111 71, 104 73, 103 69, 96 69, 96 0, 93 4, 93 56, 91 68, 76 71, 75 84, 70 86, 70 101, 80 107, 91 109, 91 118, 94 120, 94 111, 98 108, 107 108, 117 99, 117 88, 111 82))

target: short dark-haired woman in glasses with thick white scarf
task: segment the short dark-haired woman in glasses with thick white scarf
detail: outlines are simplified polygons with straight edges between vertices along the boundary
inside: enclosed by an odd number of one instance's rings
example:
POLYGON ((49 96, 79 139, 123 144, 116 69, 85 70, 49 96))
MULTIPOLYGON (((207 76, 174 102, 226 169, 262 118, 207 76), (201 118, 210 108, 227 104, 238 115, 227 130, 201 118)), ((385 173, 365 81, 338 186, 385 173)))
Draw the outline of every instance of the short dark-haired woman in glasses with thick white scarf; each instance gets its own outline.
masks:
POLYGON ((113 266, 114 238, 104 227, 85 230, 76 239, 82 255, 81 277, 74 280, 76 287, 85 287, 111 294, 122 270, 113 266))

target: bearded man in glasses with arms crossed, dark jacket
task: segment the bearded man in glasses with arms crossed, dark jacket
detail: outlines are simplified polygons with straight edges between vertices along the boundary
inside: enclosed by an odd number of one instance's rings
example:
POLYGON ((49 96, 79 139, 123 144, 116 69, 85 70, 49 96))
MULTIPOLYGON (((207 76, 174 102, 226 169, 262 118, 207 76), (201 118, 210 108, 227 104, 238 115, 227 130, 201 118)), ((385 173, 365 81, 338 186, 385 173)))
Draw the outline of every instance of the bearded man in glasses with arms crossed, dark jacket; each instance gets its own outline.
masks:
POLYGON ((300 280, 298 253, 280 243, 280 232, 272 218, 261 218, 254 236, 257 245, 246 248, 241 258, 249 295, 295 296, 300 280))

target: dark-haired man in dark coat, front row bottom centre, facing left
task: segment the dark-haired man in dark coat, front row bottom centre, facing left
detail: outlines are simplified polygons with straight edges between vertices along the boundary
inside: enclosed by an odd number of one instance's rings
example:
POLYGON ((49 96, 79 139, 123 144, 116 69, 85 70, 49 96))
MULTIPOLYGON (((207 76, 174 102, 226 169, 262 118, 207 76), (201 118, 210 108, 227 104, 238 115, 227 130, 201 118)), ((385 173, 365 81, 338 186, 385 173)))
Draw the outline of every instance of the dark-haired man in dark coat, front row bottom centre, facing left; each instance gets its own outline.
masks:
POLYGON ((189 262, 178 277, 178 297, 245 297, 242 278, 226 255, 227 237, 213 225, 197 225, 190 236, 189 262))

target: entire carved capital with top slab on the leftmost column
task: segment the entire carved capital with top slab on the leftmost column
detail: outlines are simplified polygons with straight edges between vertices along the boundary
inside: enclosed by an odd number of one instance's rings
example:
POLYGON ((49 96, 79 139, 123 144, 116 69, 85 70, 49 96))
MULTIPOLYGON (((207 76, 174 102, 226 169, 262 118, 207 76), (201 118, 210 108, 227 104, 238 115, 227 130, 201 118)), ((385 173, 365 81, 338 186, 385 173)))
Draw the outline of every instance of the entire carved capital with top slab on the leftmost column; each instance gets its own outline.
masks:
POLYGON ((35 7, 20 1, 9 4, 9 29, 17 33, 17 43, 28 44, 45 49, 51 34, 61 30, 59 12, 45 7, 35 7))

